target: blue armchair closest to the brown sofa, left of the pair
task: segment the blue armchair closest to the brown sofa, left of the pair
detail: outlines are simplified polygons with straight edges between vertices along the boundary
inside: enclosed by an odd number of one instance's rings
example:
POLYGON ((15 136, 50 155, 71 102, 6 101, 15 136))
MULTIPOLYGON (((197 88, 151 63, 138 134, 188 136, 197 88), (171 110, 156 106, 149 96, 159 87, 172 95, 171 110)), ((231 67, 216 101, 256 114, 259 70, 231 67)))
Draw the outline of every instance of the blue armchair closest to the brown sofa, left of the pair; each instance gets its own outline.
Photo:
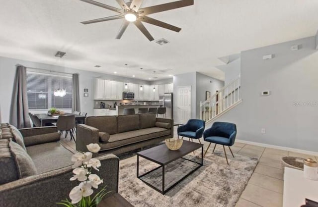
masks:
MULTIPOLYGON (((200 139, 203 135, 205 128, 205 121, 201 119, 189 119, 184 125, 178 127, 178 138, 179 136, 188 137, 190 139, 200 139)), ((193 141, 193 140, 192 140, 193 141)), ((201 143, 201 141, 199 140, 201 143)))

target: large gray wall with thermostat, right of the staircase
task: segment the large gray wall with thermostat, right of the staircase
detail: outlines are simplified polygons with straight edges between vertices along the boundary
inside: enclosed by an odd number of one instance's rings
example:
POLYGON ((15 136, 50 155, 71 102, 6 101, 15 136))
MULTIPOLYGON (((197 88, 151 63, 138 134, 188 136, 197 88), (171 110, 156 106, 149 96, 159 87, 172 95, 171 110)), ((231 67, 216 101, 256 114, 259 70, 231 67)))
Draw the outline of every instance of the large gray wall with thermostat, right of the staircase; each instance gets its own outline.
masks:
POLYGON ((318 152, 315 47, 310 37, 241 52, 242 103, 218 121, 236 123, 241 140, 318 152), (291 51, 292 45, 301 49, 291 51), (263 60, 265 54, 275 58, 263 60), (263 90, 271 95, 261 96, 263 90))

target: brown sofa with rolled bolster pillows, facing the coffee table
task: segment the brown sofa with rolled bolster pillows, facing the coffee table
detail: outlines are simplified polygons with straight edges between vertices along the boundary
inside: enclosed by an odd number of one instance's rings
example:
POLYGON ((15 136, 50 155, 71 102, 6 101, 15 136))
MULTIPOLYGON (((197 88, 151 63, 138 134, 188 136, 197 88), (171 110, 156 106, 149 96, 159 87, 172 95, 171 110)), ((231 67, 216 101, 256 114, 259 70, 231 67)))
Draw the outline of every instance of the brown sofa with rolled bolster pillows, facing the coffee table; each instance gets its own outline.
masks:
POLYGON ((119 155, 173 137, 173 119, 157 118, 155 113, 90 116, 77 126, 76 150, 98 143, 100 153, 119 155))

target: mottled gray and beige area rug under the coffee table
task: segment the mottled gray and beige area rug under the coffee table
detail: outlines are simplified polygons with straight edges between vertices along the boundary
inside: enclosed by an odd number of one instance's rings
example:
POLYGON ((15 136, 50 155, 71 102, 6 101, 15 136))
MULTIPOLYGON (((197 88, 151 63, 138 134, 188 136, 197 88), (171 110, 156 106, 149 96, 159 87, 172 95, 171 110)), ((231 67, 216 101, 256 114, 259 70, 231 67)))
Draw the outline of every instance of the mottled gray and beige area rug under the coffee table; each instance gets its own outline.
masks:
MULTIPOLYGON (((228 155, 230 157, 230 155, 228 155)), ((228 158, 229 158, 228 157, 228 158)), ((197 150, 186 155, 200 162, 201 152, 197 150)), ((258 160, 235 154, 229 158, 227 165, 223 151, 214 154, 208 152, 204 166, 174 186, 165 195, 152 189, 137 178, 137 157, 133 156, 120 161, 119 193, 135 207, 234 207, 258 160)), ((140 157, 140 174, 159 165, 140 157)), ((197 164, 178 159, 166 166, 165 187, 183 177, 197 164)), ((158 187, 162 186, 162 169, 156 170, 144 179, 158 187)))

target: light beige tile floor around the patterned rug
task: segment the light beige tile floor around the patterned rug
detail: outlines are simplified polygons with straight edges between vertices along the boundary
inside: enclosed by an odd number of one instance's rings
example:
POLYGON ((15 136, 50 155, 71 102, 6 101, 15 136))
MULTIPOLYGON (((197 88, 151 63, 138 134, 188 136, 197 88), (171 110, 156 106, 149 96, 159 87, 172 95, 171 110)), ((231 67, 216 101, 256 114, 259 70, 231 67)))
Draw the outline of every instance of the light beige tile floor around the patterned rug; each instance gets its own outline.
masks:
MULTIPOLYGON (((174 136, 177 137, 176 128, 174 136)), ((63 143, 75 149, 75 143, 70 142, 70 138, 61 139, 63 143)), ((197 141, 196 141, 197 142, 197 141)), ((204 152, 209 143, 204 142, 204 152)), ((209 151, 212 152, 214 145, 211 144, 209 151)), ((217 145, 216 149, 223 148, 217 145)), ((280 159, 282 156, 298 156, 303 158, 314 158, 318 161, 318 157, 313 155, 305 155, 290 151, 277 150, 272 148, 264 148, 254 145, 248 145, 236 142, 231 147, 234 154, 256 157, 259 162, 245 188, 236 207, 282 207, 283 206, 283 171, 280 159)), ((222 150, 223 149, 219 149, 222 150)), ((226 148, 227 155, 231 154, 226 148)))

